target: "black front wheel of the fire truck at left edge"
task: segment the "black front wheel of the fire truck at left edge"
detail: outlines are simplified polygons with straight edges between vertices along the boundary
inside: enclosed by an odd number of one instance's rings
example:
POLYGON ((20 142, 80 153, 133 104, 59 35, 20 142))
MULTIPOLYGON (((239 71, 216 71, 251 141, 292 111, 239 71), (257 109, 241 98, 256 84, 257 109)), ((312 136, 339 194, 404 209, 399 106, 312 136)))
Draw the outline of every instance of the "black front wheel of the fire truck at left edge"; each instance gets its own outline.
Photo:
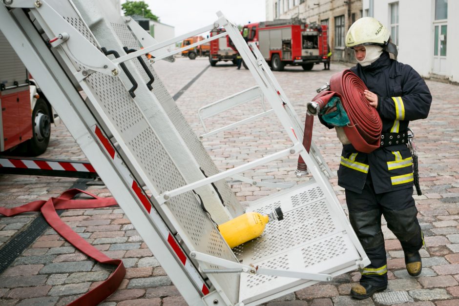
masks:
POLYGON ((32 133, 27 141, 27 155, 37 156, 46 151, 51 136, 51 113, 42 98, 37 100, 32 112, 32 133))

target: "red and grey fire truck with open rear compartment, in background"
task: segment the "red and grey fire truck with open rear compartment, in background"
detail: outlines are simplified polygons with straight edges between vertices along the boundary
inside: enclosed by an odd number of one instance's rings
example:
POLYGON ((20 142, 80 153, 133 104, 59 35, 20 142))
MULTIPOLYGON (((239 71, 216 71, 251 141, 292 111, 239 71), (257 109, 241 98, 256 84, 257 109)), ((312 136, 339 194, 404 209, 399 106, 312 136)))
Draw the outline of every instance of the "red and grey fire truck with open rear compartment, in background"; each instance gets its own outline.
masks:
POLYGON ((272 70, 285 65, 301 65, 304 70, 327 61, 328 27, 304 20, 279 19, 249 23, 242 29, 248 42, 254 41, 272 70))

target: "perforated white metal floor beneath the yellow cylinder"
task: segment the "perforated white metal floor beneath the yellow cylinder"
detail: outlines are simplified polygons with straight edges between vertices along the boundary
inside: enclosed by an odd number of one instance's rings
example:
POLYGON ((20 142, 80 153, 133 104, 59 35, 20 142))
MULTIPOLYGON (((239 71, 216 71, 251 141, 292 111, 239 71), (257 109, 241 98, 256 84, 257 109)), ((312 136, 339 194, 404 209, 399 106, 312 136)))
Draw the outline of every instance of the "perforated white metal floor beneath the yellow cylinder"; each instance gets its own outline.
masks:
MULTIPOLYGON (((337 267, 354 269, 355 260, 350 259, 359 255, 347 235, 348 227, 343 226, 334 206, 328 203, 315 181, 263 198, 247 210, 266 214, 279 206, 284 220, 268 223, 260 237, 233 248, 239 261, 272 269, 332 275, 336 275, 337 267)), ((248 304, 305 283, 308 281, 245 274, 241 276, 239 300, 248 304)))

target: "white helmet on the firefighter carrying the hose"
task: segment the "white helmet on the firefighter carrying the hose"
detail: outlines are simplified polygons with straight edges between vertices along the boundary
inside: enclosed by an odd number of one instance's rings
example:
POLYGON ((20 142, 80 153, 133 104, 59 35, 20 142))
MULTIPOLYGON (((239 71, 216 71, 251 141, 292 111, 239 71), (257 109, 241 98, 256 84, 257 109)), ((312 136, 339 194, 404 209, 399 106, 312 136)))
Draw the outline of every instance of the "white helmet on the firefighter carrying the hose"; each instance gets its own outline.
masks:
POLYGON ((346 47, 354 48, 362 45, 375 44, 397 57, 397 47, 391 42, 391 33, 378 20, 363 17, 356 20, 346 34, 346 47))

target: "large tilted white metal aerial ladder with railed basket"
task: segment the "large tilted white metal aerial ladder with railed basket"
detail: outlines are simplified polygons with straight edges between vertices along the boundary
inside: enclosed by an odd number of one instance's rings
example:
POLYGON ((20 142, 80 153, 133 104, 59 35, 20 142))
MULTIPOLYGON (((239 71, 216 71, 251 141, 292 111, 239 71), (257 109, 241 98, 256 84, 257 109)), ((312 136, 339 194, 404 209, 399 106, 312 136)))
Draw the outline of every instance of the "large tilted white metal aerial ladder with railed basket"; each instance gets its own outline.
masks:
POLYGON ((258 305, 370 263, 329 183, 330 169, 314 144, 309 153, 302 144, 292 103, 256 46, 222 13, 158 42, 109 0, 2 0, 0 30, 189 305, 258 305), (201 119, 253 99, 271 108, 199 137, 154 67, 173 65, 182 52, 162 47, 219 27, 226 32, 196 46, 228 35, 257 85, 204 106, 201 119), (291 145, 220 171, 201 139, 269 114, 291 145), (243 209, 226 180, 253 183, 240 173, 292 154, 301 155, 310 179, 243 209), (216 226, 277 206, 282 222, 233 249, 216 226))

